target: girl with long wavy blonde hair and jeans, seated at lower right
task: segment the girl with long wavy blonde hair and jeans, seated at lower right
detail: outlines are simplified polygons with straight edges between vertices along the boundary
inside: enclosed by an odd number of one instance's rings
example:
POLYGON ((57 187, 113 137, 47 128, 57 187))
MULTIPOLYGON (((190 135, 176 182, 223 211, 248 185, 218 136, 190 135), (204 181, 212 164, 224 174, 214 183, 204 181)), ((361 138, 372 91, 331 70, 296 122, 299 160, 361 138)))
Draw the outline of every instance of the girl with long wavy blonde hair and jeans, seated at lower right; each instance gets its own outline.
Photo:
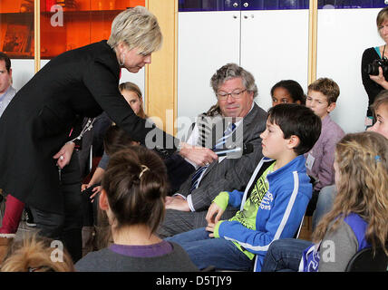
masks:
POLYGON ((382 247, 388 256, 388 140, 372 131, 345 135, 335 150, 335 186, 334 207, 315 228, 314 244, 275 241, 263 271, 343 272, 365 247, 382 247))

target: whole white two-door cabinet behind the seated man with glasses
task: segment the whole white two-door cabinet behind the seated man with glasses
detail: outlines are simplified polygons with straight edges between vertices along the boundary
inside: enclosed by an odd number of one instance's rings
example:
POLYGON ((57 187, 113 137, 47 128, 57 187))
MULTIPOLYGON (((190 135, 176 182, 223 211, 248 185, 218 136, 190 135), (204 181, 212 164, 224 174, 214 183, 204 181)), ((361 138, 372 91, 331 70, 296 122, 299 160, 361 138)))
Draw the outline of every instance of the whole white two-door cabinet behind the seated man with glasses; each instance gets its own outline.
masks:
POLYGON ((178 117, 195 117, 217 102, 210 78, 238 63, 257 82, 256 102, 271 106, 278 81, 307 84, 308 10, 181 12, 178 25, 178 117))

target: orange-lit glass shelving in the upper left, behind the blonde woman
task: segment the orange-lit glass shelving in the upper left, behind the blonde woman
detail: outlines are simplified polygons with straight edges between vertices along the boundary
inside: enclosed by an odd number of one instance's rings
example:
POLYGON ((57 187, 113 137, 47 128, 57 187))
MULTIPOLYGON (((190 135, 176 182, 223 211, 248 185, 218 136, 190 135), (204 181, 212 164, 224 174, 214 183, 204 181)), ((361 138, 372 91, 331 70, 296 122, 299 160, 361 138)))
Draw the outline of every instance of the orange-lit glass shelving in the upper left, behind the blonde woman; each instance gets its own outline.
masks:
MULTIPOLYGON (((41 59, 108 39, 117 14, 145 5, 145 0, 39 1, 41 59)), ((35 32, 34 1, 0 1, 0 51, 11 58, 34 59, 35 32)))

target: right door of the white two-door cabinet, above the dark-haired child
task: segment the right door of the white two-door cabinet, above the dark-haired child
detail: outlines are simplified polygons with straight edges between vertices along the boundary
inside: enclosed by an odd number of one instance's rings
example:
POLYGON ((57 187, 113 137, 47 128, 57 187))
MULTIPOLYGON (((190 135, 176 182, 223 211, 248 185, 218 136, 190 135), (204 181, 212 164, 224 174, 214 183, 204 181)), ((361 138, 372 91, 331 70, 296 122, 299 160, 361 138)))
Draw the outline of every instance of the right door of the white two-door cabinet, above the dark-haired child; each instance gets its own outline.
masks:
POLYGON ((259 106, 272 106, 270 90, 281 80, 295 80, 306 91, 307 64, 307 9, 241 12, 240 65, 255 77, 259 106))

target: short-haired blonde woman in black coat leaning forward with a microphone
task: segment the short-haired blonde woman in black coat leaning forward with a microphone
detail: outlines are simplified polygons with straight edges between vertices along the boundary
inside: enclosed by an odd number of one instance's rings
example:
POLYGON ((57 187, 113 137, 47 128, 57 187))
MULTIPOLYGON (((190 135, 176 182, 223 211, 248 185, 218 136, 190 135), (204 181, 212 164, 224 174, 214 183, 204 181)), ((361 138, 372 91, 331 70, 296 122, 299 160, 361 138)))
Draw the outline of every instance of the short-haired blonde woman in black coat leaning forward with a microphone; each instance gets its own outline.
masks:
MULTIPOLYGON (((75 162, 69 133, 77 118, 93 118, 105 111, 134 140, 165 155, 180 149, 190 160, 218 158, 209 149, 186 150, 185 144, 137 116, 122 98, 121 69, 138 73, 151 63, 151 54, 161 42, 155 15, 142 6, 126 9, 114 18, 108 41, 54 57, 16 93, 0 120, 0 140, 6 140, 0 142, 0 189, 8 195, 0 228, 0 260, 15 237, 24 203, 43 236, 66 240, 68 248, 80 241, 82 197, 80 191, 64 192, 69 180, 62 172, 75 162), (154 136, 159 138, 155 141, 154 136)), ((74 131, 83 130, 79 126, 74 131)), ((74 177, 81 177, 79 166, 73 166, 74 177)), ((81 189, 81 178, 72 180, 74 184, 81 189)), ((80 243, 75 247, 74 259, 82 253, 80 243)))

